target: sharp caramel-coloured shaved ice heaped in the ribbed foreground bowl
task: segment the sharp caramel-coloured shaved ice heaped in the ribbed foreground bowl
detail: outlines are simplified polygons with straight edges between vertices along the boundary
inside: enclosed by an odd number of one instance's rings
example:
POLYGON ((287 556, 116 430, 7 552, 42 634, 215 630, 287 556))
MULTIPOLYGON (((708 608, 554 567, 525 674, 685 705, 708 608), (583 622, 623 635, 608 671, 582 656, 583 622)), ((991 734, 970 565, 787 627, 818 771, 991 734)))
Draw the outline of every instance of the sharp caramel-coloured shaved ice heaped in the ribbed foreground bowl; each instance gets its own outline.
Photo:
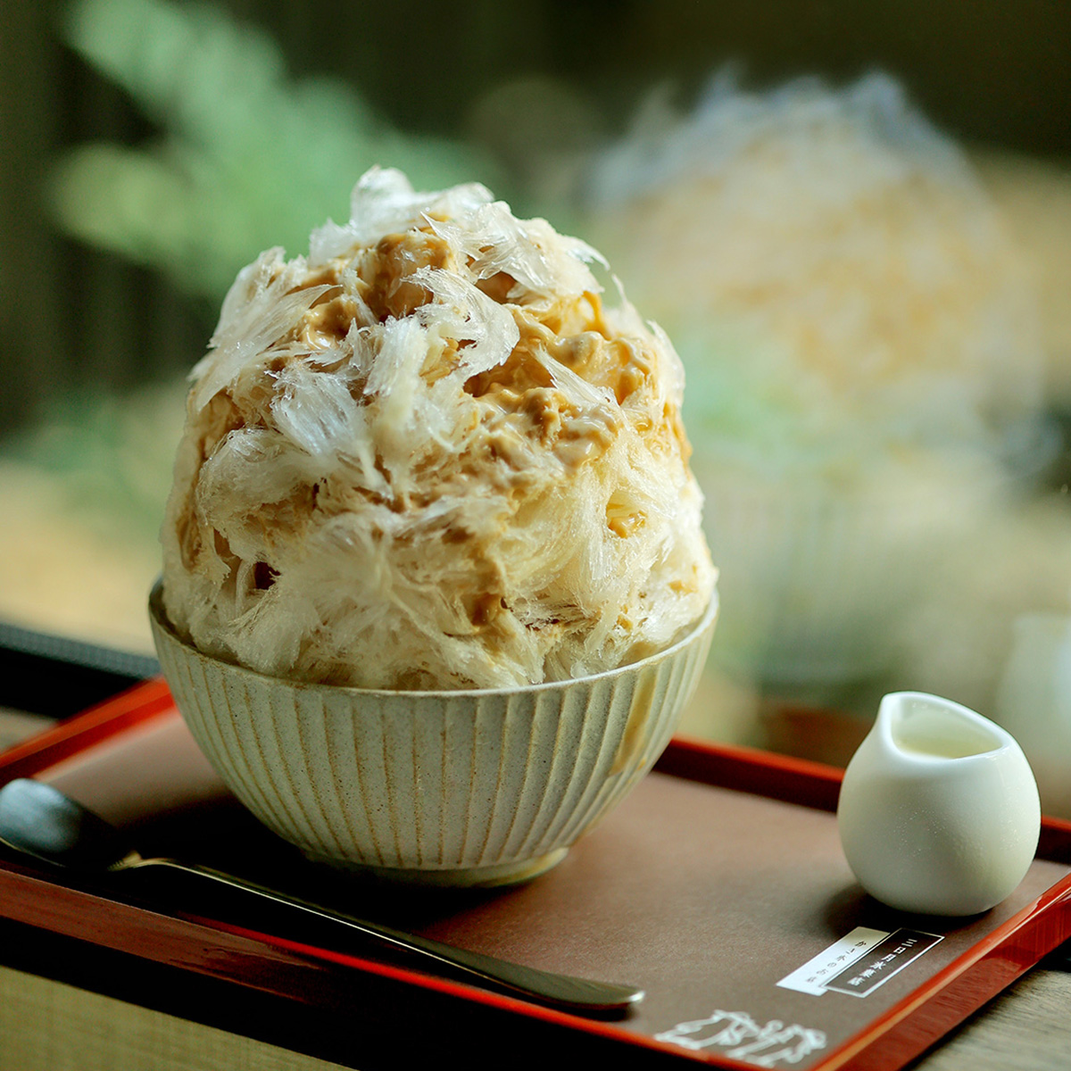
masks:
POLYGON ((177 634, 274 677, 496 689, 638 661, 715 570, 683 373, 601 257, 477 184, 375 169, 261 254, 193 372, 167 506, 177 634))

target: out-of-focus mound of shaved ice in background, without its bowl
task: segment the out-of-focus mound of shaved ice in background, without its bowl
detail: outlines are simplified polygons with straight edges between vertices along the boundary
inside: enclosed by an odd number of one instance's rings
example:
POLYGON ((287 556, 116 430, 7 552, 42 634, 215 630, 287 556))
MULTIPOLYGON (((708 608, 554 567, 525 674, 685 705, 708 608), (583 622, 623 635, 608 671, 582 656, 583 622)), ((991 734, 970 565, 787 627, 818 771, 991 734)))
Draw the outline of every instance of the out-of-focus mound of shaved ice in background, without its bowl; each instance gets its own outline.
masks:
POLYGON ((716 78, 607 150, 589 198, 588 233, 684 359, 697 449, 709 431, 796 471, 999 453, 1037 418, 1022 253, 968 156, 888 75, 765 93, 716 78))

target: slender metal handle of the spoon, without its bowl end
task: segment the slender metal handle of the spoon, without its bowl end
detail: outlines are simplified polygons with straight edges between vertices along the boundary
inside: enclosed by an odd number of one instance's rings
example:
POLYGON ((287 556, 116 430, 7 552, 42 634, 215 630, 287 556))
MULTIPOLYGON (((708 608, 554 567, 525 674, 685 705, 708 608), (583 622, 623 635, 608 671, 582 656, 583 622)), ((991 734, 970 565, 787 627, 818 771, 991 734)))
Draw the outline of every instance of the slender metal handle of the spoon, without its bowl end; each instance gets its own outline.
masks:
POLYGON ((601 982, 587 978, 576 978, 572 975, 554 974, 548 970, 540 970, 537 967, 499 960, 493 955, 484 955, 481 952, 471 952, 452 945, 443 945, 441 941, 421 937, 419 934, 404 933, 390 926, 380 925, 378 922, 368 922, 365 919, 344 915, 342 911, 320 907, 297 896, 268 889, 246 878, 226 874, 198 863, 185 863, 177 859, 141 859, 138 857, 124 860, 115 869, 132 870, 153 865, 169 866, 172 870, 195 874, 233 889, 241 889, 265 900, 284 904, 306 915, 344 925, 350 932, 372 937, 390 948, 434 961, 463 976, 474 977, 496 989, 519 994, 558 1008, 588 1013, 623 1012, 644 997, 644 991, 632 985, 619 985, 615 982, 601 982))

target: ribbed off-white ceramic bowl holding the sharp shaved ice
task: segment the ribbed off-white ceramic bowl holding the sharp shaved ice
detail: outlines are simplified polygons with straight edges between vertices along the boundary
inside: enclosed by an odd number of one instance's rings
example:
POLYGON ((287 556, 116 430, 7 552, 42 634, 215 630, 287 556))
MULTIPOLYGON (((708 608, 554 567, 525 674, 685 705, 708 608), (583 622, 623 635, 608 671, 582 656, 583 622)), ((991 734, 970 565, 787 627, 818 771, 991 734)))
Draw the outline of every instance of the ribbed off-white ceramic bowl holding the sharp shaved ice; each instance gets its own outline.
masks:
POLYGON ((161 666, 233 794, 310 858, 436 885, 555 865, 665 749, 710 646, 716 598, 673 647, 528 688, 387 692, 292 682, 201 654, 149 601, 161 666))

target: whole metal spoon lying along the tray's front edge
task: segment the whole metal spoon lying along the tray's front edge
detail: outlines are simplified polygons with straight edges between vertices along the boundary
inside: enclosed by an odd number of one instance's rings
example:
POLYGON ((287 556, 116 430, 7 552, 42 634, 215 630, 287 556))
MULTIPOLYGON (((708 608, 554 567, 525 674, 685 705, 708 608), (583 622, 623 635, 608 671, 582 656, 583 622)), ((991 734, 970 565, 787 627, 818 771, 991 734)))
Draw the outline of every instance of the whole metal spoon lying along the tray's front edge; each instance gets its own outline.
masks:
POLYGON ((319 907, 210 866, 177 859, 145 859, 110 823, 64 796, 59 789, 40 781, 18 779, 0 788, 0 842, 54 865, 79 871, 115 872, 142 866, 169 866, 186 874, 195 874, 335 922, 351 933, 372 937, 393 949, 416 953, 466 978, 479 979, 493 989, 519 994, 570 1011, 604 1014, 622 1012, 644 997, 643 990, 631 985, 552 974, 454 948, 418 934, 402 933, 376 922, 319 907))

